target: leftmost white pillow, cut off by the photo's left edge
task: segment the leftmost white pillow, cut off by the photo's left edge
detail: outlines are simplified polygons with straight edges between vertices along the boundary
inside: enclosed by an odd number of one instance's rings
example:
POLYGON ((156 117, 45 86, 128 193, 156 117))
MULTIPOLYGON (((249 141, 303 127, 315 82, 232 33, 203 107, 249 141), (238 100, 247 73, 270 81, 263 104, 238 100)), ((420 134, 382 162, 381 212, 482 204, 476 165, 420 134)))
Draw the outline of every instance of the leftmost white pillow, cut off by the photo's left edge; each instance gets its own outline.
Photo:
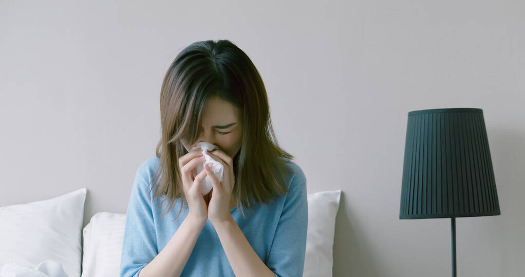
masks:
POLYGON ((35 268, 54 260, 69 277, 80 277, 86 191, 0 207, 0 267, 17 263, 35 268))

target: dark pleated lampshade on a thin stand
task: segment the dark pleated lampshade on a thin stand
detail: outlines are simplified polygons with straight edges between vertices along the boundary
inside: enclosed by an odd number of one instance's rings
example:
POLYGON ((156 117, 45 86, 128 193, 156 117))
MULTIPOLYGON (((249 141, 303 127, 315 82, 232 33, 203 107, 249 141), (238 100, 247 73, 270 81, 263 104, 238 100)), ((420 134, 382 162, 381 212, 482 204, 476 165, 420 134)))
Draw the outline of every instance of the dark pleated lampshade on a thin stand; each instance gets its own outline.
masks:
POLYGON ((408 112, 400 219, 498 214, 483 111, 408 112))

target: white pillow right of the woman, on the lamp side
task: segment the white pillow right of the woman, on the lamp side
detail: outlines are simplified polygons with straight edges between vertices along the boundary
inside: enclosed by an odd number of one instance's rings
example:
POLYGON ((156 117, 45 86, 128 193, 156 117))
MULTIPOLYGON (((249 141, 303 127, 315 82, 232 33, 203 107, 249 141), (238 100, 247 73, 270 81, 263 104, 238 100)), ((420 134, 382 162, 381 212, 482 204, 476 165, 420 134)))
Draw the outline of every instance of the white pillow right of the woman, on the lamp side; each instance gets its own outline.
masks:
POLYGON ((341 190, 308 194, 308 231, 303 277, 332 276, 335 216, 341 190))

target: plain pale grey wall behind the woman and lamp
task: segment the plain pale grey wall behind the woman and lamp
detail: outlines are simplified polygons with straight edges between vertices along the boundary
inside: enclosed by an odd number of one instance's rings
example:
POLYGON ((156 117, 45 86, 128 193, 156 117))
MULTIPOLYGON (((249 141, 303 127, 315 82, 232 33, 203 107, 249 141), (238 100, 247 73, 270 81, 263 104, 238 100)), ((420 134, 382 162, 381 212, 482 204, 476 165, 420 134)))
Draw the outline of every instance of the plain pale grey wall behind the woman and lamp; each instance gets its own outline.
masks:
POLYGON ((457 220, 458 276, 525 272, 522 1, 0 1, 0 206, 87 187, 125 213, 167 66, 232 40, 308 191, 341 189, 334 276, 450 275, 450 220, 398 219, 407 112, 482 108, 501 216, 457 220))

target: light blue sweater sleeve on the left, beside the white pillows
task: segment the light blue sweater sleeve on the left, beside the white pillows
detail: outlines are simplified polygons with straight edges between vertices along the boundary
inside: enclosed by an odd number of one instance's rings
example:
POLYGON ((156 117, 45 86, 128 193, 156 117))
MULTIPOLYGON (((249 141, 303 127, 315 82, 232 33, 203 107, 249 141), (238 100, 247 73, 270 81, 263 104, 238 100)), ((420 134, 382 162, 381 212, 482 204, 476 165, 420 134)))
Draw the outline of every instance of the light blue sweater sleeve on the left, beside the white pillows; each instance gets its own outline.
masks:
POLYGON ((135 174, 128 203, 120 277, 139 276, 144 266, 158 255, 148 176, 147 167, 143 163, 135 174))

